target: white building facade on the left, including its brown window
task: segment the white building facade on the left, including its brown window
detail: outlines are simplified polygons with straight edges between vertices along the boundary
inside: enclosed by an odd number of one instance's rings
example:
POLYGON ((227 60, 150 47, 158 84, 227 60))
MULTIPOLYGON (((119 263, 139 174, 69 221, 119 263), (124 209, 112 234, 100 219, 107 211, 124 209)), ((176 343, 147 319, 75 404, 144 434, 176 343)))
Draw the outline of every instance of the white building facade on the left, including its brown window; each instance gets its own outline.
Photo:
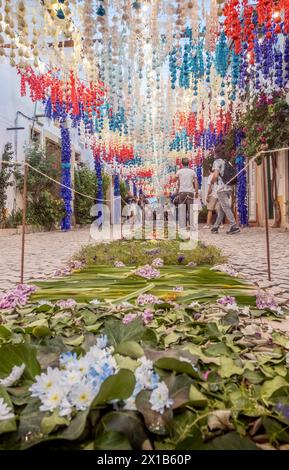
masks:
MULTIPOLYGON (((0 63, 0 164, 5 144, 11 143, 14 160, 23 162, 25 147, 32 141, 39 143, 45 150, 47 158, 54 159, 54 163, 60 171, 60 127, 44 117, 41 103, 33 103, 29 96, 21 97, 20 76, 17 74, 17 70, 12 68, 9 63, 2 62, 0 63)), ((81 163, 87 163, 91 166, 92 156, 79 143, 77 131, 74 129, 71 130, 71 148, 73 180, 75 167, 81 163)), ((21 197, 16 194, 14 186, 8 189, 7 195, 9 212, 21 208, 21 197)))

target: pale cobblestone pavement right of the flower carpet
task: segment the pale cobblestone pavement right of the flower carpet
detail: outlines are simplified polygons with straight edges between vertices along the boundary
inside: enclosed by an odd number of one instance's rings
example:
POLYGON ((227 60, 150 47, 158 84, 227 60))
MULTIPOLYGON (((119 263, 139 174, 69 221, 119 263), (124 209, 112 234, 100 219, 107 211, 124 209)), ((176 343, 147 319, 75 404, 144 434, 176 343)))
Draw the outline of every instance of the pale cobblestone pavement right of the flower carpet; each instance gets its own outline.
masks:
POLYGON ((253 283, 269 288, 278 300, 289 306, 289 232, 270 230, 272 281, 268 281, 266 235, 263 228, 244 228, 240 234, 226 235, 226 228, 214 235, 200 228, 199 239, 221 248, 229 263, 253 283))

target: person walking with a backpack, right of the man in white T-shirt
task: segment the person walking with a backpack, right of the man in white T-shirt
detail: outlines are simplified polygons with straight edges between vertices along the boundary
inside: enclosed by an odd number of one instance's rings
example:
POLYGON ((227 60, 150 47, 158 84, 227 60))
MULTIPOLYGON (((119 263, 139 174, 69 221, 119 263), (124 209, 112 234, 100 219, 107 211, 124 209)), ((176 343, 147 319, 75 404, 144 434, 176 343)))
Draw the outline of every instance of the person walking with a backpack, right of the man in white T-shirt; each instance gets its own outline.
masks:
POLYGON ((229 165, 229 162, 226 161, 224 144, 217 145, 217 147, 215 148, 214 158, 214 173, 211 181, 213 184, 216 183, 216 192, 220 203, 220 210, 218 212, 217 220, 211 232, 215 234, 219 232, 219 228, 223 222, 224 215, 226 215, 230 223, 230 229, 226 233, 228 235, 235 235, 236 233, 240 233, 240 227, 236 223, 236 219, 231 209, 230 201, 232 195, 232 187, 228 184, 229 181, 226 181, 225 179, 226 165, 229 165))

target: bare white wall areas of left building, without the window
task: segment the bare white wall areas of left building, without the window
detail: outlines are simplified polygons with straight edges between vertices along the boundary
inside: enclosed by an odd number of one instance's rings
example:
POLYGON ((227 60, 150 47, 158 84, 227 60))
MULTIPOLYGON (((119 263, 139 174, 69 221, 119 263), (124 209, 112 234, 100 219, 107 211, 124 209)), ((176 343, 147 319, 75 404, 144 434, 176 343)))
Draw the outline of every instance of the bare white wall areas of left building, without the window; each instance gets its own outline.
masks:
MULTIPOLYGON (((5 59, 4 59, 5 61, 5 59)), ((42 103, 35 103, 29 97, 29 89, 27 95, 21 97, 20 93, 20 76, 17 70, 11 67, 7 62, 0 63, 0 161, 1 155, 5 144, 11 142, 13 145, 15 160, 22 162, 24 160, 24 148, 29 143, 32 121, 26 119, 21 112, 28 117, 33 117, 35 114, 44 114, 42 103), (36 112, 35 112, 36 111, 36 112), (8 131, 9 127, 24 127, 24 130, 8 131)), ((34 124, 34 129, 40 132, 41 143, 45 146, 45 138, 60 142, 60 128, 56 127, 53 122, 47 118, 39 118, 39 122, 43 124, 34 124)), ((75 152, 81 155, 81 160, 91 165, 92 156, 88 150, 85 150, 83 145, 78 142, 78 135, 75 129, 71 130, 71 144, 72 144, 72 163, 74 162, 75 152)), ((14 204, 14 189, 8 190, 8 210, 12 210, 14 204)), ((19 205, 19 201, 18 201, 19 205)))

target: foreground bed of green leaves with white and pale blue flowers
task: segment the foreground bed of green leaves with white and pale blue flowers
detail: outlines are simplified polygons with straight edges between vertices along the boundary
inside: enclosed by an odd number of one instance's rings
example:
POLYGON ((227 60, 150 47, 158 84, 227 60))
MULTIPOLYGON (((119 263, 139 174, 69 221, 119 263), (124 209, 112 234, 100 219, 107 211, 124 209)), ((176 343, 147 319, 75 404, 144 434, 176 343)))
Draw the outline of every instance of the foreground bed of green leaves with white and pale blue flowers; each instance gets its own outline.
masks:
POLYGON ((288 448, 289 338, 264 321, 286 312, 259 298, 2 310, 0 448, 288 448))

